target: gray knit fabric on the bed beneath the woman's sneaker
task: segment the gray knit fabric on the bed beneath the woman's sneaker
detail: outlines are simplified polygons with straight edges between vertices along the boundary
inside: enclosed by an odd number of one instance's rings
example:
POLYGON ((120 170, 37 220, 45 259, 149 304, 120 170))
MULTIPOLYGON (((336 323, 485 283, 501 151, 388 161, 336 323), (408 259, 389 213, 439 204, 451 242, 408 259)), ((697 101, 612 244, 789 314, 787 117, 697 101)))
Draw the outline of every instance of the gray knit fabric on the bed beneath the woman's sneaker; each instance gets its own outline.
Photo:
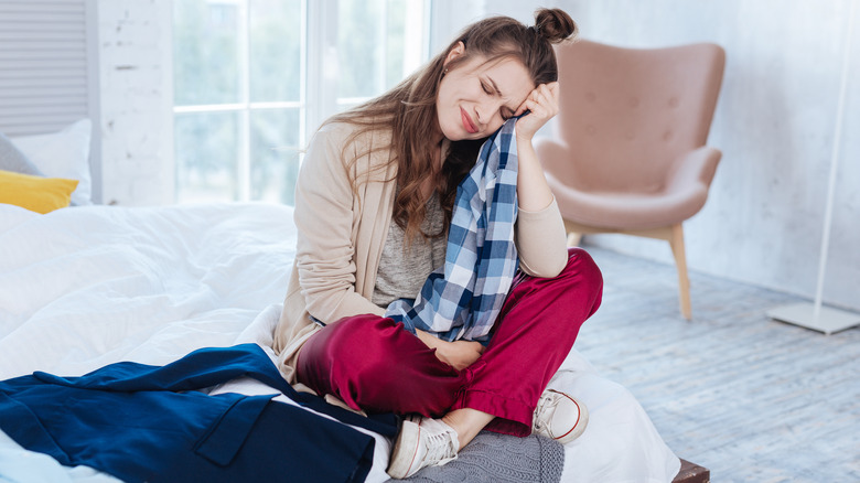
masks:
MULTIPOLYGON (((456 460, 428 466, 401 481, 419 483, 524 483, 561 480, 565 447, 542 436, 526 438, 481 431, 456 460)), ((388 480, 394 483, 397 480, 388 480)))

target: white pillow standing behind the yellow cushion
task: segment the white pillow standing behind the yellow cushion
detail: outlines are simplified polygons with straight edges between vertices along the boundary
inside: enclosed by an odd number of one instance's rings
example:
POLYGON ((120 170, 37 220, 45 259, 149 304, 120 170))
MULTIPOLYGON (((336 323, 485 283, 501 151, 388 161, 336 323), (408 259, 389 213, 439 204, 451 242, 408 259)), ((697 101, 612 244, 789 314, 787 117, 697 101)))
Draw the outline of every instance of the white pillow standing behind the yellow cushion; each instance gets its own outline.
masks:
POLYGON ((89 172, 89 137, 93 122, 80 119, 58 132, 18 136, 9 139, 45 176, 77 180, 72 204, 92 205, 93 181, 89 172))

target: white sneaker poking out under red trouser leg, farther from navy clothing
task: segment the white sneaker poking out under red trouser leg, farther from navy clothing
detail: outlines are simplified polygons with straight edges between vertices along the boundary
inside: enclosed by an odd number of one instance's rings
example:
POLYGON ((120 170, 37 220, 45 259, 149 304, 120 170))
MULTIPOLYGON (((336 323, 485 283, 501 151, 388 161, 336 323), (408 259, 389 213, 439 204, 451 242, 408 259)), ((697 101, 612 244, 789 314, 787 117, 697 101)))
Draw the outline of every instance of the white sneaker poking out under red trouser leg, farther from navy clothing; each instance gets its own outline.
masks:
POLYGON ((563 444, 579 438, 588 423, 585 405, 565 393, 546 389, 538 399, 531 432, 563 444))

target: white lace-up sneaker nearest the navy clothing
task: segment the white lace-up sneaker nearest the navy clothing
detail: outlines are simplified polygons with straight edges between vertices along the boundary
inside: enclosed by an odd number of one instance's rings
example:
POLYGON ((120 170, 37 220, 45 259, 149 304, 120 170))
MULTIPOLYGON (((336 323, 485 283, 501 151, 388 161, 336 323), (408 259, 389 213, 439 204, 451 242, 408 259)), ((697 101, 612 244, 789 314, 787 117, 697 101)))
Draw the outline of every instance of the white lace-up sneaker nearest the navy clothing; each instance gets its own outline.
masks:
POLYGON ((439 419, 412 416, 404 420, 397 436, 388 475, 408 477, 424 466, 441 466, 456 459, 460 441, 454 428, 439 419))

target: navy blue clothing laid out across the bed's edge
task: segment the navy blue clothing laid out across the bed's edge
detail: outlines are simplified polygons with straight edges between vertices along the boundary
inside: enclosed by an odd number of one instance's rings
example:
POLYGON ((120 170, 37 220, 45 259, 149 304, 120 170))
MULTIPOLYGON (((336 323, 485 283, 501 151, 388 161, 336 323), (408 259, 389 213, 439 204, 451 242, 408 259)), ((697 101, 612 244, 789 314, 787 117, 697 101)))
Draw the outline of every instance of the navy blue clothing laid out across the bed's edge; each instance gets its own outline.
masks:
POLYGON ((34 373, 0 382, 0 429, 64 465, 95 468, 126 482, 361 482, 374 439, 394 415, 369 418, 297 393, 256 344, 203 348, 165 365, 117 363, 82 377, 34 373), (272 387, 268 396, 201 389, 240 376, 272 387))

